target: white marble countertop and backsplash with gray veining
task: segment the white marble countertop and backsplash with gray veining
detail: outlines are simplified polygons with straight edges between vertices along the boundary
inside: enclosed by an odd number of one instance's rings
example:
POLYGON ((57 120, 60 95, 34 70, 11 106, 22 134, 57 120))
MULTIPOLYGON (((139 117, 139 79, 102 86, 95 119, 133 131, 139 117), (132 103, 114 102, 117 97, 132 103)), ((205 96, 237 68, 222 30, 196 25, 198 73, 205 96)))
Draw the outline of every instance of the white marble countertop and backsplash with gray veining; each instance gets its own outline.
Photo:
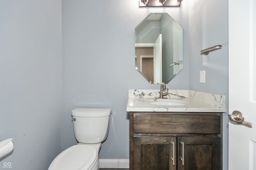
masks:
POLYGON ((183 106, 150 104, 159 97, 160 90, 128 90, 126 111, 140 112, 226 112, 226 95, 196 90, 169 90, 168 98, 183 106))

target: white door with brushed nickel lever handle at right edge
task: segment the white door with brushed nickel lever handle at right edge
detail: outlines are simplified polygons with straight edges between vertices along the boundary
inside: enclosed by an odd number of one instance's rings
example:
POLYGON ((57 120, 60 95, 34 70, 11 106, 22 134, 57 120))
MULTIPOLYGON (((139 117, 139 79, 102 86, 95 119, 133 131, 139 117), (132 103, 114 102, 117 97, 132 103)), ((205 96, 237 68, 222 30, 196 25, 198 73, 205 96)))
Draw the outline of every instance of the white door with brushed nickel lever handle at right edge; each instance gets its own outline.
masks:
POLYGON ((229 0, 229 170, 256 170, 256 1, 229 0))

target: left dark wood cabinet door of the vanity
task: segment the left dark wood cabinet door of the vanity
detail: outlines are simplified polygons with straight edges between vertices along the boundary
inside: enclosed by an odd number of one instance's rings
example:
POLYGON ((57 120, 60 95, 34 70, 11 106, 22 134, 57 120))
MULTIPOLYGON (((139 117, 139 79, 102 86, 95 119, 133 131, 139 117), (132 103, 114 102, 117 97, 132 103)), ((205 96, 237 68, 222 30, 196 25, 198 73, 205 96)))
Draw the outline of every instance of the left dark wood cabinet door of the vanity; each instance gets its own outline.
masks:
POLYGON ((134 136, 134 170, 176 170, 176 137, 134 136))

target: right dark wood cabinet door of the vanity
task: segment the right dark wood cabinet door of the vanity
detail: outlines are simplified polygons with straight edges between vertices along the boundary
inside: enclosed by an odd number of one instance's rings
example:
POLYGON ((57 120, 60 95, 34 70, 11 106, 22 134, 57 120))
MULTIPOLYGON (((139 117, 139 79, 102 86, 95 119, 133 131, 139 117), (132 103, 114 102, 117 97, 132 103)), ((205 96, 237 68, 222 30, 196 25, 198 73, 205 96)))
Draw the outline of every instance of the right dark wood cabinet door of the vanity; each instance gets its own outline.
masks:
POLYGON ((178 170, 221 170, 219 137, 178 137, 178 170))

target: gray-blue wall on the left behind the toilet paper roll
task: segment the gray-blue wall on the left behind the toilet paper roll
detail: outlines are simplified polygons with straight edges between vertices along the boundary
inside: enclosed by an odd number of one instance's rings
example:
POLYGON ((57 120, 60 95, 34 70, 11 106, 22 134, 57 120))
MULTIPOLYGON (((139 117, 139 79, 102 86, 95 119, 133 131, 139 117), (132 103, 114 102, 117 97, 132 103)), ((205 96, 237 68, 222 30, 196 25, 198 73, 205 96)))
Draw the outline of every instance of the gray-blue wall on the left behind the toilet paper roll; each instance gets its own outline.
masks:
POLYGON ((14 138, 0 169, 46 170, 61 151, 61 53, 61 0, 0 0, 0 141, 14 138))

